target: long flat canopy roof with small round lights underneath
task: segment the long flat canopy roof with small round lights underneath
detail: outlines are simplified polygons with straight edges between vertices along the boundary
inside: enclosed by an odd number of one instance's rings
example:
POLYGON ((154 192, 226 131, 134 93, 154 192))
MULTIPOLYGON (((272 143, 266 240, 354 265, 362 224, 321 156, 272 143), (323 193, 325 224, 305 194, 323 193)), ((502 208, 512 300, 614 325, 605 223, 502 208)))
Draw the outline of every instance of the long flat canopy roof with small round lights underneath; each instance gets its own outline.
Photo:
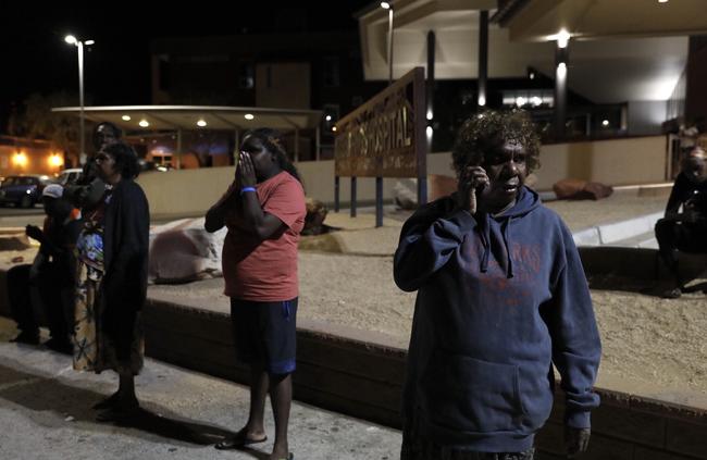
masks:
MULTIPOLYGON (((51 110, 52 112, 71 113, 76 116, 80 113, 78 107, 59 107, 51 110)), ((322 120, 321 110, 219 105, 86 107, 84 108, 84 114, 88 121, 95 123, 111 122, 125 132, 170 129, 245 130, 261 126, 287 132, 315 128, 322 120), (141 121, 147 121, 149 125, 140 126, 141 121), (206 122, 206 125, 197 125, 200 121, 206 122)))

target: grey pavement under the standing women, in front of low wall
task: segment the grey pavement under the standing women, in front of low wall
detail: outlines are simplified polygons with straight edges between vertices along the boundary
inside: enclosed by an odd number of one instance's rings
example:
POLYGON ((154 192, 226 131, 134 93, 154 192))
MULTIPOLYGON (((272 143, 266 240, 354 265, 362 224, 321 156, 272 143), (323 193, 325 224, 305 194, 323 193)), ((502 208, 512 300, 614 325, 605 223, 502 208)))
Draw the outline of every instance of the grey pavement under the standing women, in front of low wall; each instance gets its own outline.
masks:
MULTIPOLYGON (((0 318, 0 459, 266 459, 272 443, 245 451, 212 444, 245 422, 247 388, 147 359, 137 377, 145 409, 133 426, 97 423, 90 406, 115 388, 115 376, 77 373, 53 351, 8 343, 0 318)), ((268 436, 273 421, 266 410, 268 436)), ((293 406, 295 459, 393 460, 400 433, 302 403, 293 406)))

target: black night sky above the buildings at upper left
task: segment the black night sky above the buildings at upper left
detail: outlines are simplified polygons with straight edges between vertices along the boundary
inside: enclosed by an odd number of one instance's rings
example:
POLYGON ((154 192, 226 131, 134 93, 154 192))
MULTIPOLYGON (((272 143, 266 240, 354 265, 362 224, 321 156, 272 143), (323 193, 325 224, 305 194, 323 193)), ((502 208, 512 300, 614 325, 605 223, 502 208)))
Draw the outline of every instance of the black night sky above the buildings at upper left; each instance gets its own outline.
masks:
POLYGON ((85 54, 87 104, 149 104, 149 47, 153 38, 356 30, 354 12, 372 2, 228 3, 231 8, 209 1, 194 2, 194 7, 188 7, 188 1, 0 1, 0 134, 5 134, 12 104, 21 107, 33 92, 69 91, 76 95, 78 105, 77 52, 76 47, 64 42, 69 33, 96 40, 85 54))

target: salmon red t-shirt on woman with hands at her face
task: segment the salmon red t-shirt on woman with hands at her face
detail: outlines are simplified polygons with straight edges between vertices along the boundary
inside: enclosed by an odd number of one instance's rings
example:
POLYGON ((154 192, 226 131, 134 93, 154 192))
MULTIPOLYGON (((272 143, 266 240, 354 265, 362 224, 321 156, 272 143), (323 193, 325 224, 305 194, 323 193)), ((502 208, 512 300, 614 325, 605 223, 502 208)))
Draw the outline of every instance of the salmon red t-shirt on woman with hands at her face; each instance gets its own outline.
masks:
POLYGON ((243 200, 238 201, 226 217, 228 233, 222 258, 225 295, 261 302, 290 300, 299 295, 297 244, 307 214, 305 190, 285 171, 256 185, 256 190, 263 212, 280 219, 286 228, 260 241, 244 228, 243 200))

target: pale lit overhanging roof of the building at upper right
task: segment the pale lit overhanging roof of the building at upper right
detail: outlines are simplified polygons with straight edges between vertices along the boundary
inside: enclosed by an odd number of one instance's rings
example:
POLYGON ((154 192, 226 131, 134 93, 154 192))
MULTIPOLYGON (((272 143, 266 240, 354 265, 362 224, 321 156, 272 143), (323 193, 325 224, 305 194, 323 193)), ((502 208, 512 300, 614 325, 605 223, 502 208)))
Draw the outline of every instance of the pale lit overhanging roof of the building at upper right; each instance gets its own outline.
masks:
MULTIPOLYGON (((707 30, 704 0, 393 0, 393 75, 425 66, 435 33, 435 78, 479 75, 480 11, 498 13, 488 30, 488 77, 522 78, 530 67, 555 75, 551 40, 572 34, 569 86, 596 103, 670 98, 689 53, 689 35, 707 30), (702 11, 702 10, 699 10, 702 11), (663 21, 665 17, 665 21, 663 21)), ((388 12, 358 13, 363 73, 388 77, 388 12)))

